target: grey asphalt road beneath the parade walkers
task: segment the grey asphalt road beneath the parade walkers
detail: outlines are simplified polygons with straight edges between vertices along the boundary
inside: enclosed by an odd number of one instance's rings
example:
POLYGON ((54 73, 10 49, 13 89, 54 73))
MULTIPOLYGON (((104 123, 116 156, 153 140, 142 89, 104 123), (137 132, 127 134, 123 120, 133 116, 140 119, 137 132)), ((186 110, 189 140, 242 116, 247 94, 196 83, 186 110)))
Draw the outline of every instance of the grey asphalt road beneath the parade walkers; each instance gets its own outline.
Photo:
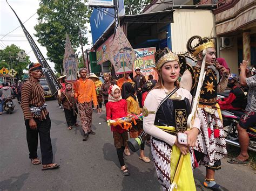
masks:
MULTIPOLYGON (((31 165, 28 158, 22 110, 15 103, 14 114, 0 116, 0 190, 160 190, 153 163, 145 164, 138 153, 125 157, 131 175, 122 175, 104 115, 93 112, 96 135, 83 142, 80 127, 66 130, 64 112, 58 109, 57 101, 47 103, 53 159, 60 168, 41 171, 42 166, 31 165)), ((148 146, 145 153, 150 155, 148 146)), ((226 190, 255 190, 255 171, 250 167, 231 165, 224 159, 222 168, 216 179, 226 190)), ((204 167, 194 171, 198 190, 207 190, 201 186, 204 174, 204 167)))

